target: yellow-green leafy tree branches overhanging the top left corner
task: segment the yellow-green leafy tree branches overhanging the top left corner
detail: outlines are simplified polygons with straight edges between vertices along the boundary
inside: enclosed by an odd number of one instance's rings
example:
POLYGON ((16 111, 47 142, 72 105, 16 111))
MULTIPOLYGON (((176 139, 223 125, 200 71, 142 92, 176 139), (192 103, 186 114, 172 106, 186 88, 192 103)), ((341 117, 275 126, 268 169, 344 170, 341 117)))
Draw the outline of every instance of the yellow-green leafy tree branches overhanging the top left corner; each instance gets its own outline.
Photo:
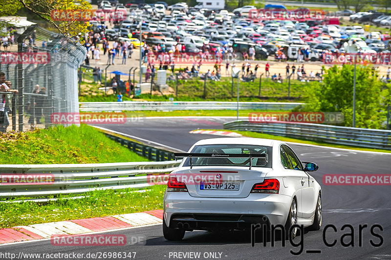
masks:
MULTIPOLYGON (((53 21, 50 17, 51 12, 55 10, 91 10, 91 5, 86 0, 0 0, 1 15, 16 15, 22 8, 49 22, 64 36, 73 37, 84 33, 88 23, 77 20, 53 21)), ((2 22, 0 29, 6 25, 2 22)))

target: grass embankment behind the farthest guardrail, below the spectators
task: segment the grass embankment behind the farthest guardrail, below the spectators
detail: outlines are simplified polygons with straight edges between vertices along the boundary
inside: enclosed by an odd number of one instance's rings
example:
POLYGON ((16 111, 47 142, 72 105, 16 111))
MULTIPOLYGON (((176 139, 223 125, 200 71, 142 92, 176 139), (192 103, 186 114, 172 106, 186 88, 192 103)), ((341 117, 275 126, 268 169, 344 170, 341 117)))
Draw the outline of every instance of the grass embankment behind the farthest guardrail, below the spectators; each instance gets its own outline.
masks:
MULTIPOLYGON (((170 87, 176 90, 176 82, 168 81, 170 87)), ((297 101, 305 100, 304 87, 311 87, 314 84, 319 84, 318 81, 301 82, 291 80, 290 91, 288 90, 288 82, 282 83, 273 82, 270 79, 262 79, 261 95, 259 96, 259 79, 254 82, 239 81, 239 101, 297 101), (288 92, 289 98, 288 98, 288 92)), ((236 101, 238 80, 234 79, 232 92, 231 78, 222 78, 220 81, 206 81, 206 92, 204 95, 204 81, 200 79, 178 80, 178 97, 175 94, 170 95, 149 95, 142 94, 137 97, 141 100, 151 101, 169 101, 174 98, 175 101, 236 101), (233 95, 231 95, 233 94, 233 95)), ((105 95, 103 90, 98 89, 97 83, 83 83, 82 96, 79 97, 80 102, 94 101, 116 101, 115 95, 105 95)), ((123 97, 123 100, 132 100, 128 97, 123 97)))

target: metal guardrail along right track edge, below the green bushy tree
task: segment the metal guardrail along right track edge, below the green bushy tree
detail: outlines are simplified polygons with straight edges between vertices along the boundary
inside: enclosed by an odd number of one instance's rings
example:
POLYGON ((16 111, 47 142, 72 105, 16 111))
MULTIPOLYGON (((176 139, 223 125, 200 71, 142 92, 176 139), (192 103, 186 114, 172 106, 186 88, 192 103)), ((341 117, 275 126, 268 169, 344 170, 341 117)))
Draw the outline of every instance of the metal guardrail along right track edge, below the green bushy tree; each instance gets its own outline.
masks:
POLYGON ((312 123, 252 123, 236 120, 224 129, 391 150, 391 131, 312 123))

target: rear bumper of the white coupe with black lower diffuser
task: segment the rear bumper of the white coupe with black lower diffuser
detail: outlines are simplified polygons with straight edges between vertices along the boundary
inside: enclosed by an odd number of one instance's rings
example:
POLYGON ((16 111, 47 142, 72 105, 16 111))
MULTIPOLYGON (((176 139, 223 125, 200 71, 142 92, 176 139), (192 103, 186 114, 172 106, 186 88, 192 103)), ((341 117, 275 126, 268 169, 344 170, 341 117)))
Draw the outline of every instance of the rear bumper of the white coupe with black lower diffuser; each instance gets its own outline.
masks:
POLYGON ((187 192, 166 192, 164 219, 176 228, 243 229, 252 223, 284 225, 292 199, 282 194, 250 194, 246 198, 197 198, 187 192))

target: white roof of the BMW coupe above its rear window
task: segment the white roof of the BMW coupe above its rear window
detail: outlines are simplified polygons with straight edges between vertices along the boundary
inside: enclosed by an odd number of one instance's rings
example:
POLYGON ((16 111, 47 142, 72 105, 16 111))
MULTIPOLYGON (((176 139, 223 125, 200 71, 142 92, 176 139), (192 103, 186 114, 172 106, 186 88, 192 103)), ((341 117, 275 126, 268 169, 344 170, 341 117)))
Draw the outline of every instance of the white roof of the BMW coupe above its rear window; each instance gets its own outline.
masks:
POLYGON ((263 145, 273 146, 275 143, 284 143, 278 140, 250 138, 250 137, 227 137, 227 138, 211 138, 197 141, 194 145, 208 145, 208 144, 245 144, 245 145, 263 145))

